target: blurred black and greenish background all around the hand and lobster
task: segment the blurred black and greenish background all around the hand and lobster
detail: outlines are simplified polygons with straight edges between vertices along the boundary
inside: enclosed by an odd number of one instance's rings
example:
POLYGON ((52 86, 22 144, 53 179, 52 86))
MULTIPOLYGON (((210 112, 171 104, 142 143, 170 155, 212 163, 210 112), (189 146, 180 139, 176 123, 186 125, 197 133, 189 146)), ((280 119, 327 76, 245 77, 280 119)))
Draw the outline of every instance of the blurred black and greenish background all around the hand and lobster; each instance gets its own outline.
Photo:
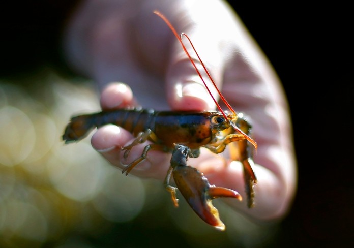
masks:
POLYGON ((279 223, 215 202, 225 232, 202 223, 161 181, 123 176, 91 147, 65 146, 71 115, 99 109, 94 82, 66 66, 61 30, 79 1, 3 8, 0 247, 352 247, 352 17, 347 6, 233 3, 271 60, 292 113, 299 186, 279 223))

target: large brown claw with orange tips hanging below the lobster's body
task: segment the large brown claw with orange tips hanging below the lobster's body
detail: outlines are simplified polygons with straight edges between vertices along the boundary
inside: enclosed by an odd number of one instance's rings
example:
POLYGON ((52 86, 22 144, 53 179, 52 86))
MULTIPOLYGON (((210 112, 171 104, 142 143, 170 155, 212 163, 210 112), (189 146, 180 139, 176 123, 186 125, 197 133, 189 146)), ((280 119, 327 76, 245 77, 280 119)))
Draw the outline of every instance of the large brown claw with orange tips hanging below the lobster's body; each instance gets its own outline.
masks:
MULTIPOLYGON (((188 157, 195 157, 189 147, 185 145, 175 146, 171 158, 174 182, 198 216, 204 222, 223 231, 225 225, 220 220, 219 211, 213 206, 212 200, 219 197, 232 197, 241 201, 242 197, 238 192, 231 189, 211 185, 202 172, 187 165, 188 157)), ((168 185, 169 177, 169 175, 166 177, 166 189, 171 193, 175 205, 178 206, 175 198, 175 188, 168 185)))

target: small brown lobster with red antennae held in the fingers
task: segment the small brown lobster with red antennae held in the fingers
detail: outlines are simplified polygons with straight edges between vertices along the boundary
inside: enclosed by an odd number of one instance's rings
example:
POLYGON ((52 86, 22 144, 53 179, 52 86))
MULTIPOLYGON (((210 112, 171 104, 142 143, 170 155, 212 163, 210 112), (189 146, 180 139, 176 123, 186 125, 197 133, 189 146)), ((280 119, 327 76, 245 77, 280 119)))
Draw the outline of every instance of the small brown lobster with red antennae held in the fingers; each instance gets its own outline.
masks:
POLYGON ((257 148, 257 144, 249 136, 251 126, 243 118, 243 114, 236 114, 221 95, 221 92, 215 85, 208 70, 206 70, 189 37, 184 33, 179 36, 166 17, 158 11, 154 11, 154 13, 166 22, 173 34, 179 39, 182 48, 203 81, 206 89, 208 89, 220 112, 155 111, 151 109, 134 108, 83 114, 72 117, 65 129, 63 140, 65 143, 79 141, 96 127, 101 127, 109 123, 118 125, 130 131, 136 137, 130 145, 122 147, 122 150, 125 151, 125 159, 127 159, 130 150, 135 145, 141 144, 146 140, 152 141, 153 144, 146 145, 141 156, 127 165, 122 173, 128 175, 137 164, 146 158, 147 152, 150 150, 171 152, 170 167, 164 185, 166 190, 170 192, 174 205, 178 206, 178 199, 176 198, 176 189, 178 189, 203 221, 219 230, 225 230, 225 225, 220 220, 219 212, 213 206, 212 199, 218 197, 232 197, 241 201, 241 195, 231 189, 211 185, 203 173, 187 165, 187 160, 189 157, 198 157, 201 147, 208 148, 214 153, 220 153, 223 152, 226 146, 231 142, 237 143, 237 148, 233 149, 231 158, 233 160, 239 160, 243 164, 248 207, 253 207, 253 186, 256 184, 257 179, 252 170, 253 160, 252 147, 250 144, 255 148, 257 148), (183 44, 182 36, 185 36, 190 42, 200 64, 203 66, 210 81, 217 89, 220 98, 231 113, 227 111, 224 112, 212 96, 192 57, 183 44), (171 176, 173 176, 177 187, 170 185, 171 176))

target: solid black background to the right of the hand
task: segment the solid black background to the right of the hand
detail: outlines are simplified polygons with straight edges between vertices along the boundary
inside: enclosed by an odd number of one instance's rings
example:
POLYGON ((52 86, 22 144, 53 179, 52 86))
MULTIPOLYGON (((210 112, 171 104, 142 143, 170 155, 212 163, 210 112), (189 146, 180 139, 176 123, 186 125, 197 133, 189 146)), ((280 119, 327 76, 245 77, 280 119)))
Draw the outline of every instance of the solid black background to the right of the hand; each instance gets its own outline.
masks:
POLYGON ((282 80, 292 113, 299 186, 280 247, 349 247, 354 78, 348 7, 238 5, 282 80))

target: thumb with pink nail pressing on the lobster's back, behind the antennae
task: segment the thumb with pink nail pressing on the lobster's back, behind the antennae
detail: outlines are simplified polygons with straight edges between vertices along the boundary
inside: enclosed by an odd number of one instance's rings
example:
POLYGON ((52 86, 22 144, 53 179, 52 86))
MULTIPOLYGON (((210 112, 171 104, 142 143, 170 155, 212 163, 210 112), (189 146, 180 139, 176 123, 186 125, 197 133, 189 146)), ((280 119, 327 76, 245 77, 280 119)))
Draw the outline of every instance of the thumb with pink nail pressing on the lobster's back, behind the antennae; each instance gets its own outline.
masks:
POLYGON ((209 25, 205 23, 205 18, 198 18, 198 15, 193 19, 182 19, 176 24, 176 28, 184 27, 183 32, 187 36, 182 36, 182 42, 177 36, 170 41, 172 46, 166 74, 169 104, 172 109, 178 110, 215 109, 216 104, 209 91, 216 100, 219 96, 210 81, 221 87, 225 60, 220 46, 223 37, 210 36, 213 30, 205 29, 209 25))

